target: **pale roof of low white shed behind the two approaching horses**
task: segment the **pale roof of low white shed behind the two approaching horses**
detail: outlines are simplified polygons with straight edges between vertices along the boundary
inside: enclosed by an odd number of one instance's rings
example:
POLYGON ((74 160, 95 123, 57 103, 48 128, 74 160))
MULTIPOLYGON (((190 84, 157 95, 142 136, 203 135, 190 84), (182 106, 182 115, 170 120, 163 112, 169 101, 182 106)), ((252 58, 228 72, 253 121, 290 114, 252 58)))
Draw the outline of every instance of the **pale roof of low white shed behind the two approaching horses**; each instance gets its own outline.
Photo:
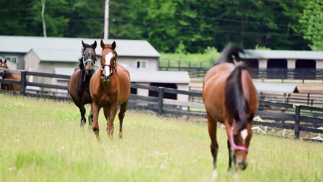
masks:
MULTIPOLYGON (((56 67, 54 73, 72 75, 75 68, 56 67)), ((138 83, 184 83, 190 82, 187 71, 146 71, 140 69, 128 69, 130 81, 138 83)))

